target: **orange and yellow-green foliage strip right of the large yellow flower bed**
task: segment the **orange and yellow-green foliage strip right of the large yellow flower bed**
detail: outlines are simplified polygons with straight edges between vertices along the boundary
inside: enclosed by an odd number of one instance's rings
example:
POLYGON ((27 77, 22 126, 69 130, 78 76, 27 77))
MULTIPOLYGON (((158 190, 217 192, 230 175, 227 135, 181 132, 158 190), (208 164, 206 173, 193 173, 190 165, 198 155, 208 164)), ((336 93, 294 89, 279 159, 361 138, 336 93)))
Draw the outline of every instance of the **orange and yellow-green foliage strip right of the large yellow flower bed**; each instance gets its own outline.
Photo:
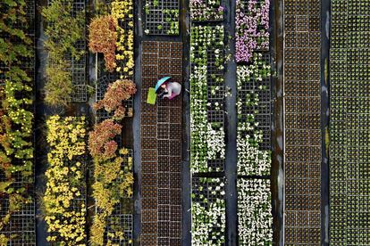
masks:
POLYGON ((88 149, 94 158, 93 197, 97 215, 90 230, 90 240, 104 245, 106 219, 123 197, 132 196, 132 160, 128 150, 118 150, 114 137, 121 134, 122 126, 106 119, 94 127, 88 138, 88 149))

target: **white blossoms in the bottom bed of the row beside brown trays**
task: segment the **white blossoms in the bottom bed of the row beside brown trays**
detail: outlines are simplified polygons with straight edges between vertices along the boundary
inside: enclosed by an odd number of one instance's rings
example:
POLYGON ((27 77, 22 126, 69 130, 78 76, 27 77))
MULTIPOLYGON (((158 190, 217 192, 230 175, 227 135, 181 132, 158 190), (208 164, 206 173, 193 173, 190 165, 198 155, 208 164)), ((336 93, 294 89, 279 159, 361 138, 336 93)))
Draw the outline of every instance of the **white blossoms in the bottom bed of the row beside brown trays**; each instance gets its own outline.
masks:
POLYGON ((194 201, 194 198, 199 194, 193 193, 191 245, 223 245, 226 225, 225 201, 223 199, 224 184, 220 178, 206 178, 206 180, 208 182, 220 182, 216 186, 208 186, 208 192, 219 193, 222 196, 207 199, 200 195, 201 201, 194 201))

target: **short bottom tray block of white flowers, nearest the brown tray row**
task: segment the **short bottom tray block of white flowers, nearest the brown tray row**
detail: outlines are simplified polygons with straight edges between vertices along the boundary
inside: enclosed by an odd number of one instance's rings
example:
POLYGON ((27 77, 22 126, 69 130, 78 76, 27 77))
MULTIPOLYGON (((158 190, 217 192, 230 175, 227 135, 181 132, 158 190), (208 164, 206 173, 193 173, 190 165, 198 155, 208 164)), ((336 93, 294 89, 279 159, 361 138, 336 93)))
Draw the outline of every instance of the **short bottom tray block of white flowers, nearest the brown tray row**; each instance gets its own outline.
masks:
POLYGON ((223 178, 193 177, 191 200, 192 245, 223 245, 226 225, 223 178))

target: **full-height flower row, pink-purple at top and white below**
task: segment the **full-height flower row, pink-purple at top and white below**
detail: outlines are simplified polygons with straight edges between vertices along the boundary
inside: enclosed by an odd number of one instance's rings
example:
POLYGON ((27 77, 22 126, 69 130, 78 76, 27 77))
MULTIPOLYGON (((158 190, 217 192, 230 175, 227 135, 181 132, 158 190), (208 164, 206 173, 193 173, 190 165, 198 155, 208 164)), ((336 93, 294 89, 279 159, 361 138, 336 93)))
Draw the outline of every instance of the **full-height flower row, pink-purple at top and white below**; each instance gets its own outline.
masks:
POLYGON ((240 245, 272 245, 270 0, 236 3, 237 192, 240 245))

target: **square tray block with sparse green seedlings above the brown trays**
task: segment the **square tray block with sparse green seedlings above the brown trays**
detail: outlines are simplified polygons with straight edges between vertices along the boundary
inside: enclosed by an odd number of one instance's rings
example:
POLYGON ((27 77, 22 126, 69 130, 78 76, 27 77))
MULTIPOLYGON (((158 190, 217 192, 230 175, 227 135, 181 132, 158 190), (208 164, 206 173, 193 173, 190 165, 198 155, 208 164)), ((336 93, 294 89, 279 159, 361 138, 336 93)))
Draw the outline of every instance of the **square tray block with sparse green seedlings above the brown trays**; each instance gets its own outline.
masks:
POLYGON ((179 0, 147 0, 144 10, 147 35, 179 35, 179 0))

